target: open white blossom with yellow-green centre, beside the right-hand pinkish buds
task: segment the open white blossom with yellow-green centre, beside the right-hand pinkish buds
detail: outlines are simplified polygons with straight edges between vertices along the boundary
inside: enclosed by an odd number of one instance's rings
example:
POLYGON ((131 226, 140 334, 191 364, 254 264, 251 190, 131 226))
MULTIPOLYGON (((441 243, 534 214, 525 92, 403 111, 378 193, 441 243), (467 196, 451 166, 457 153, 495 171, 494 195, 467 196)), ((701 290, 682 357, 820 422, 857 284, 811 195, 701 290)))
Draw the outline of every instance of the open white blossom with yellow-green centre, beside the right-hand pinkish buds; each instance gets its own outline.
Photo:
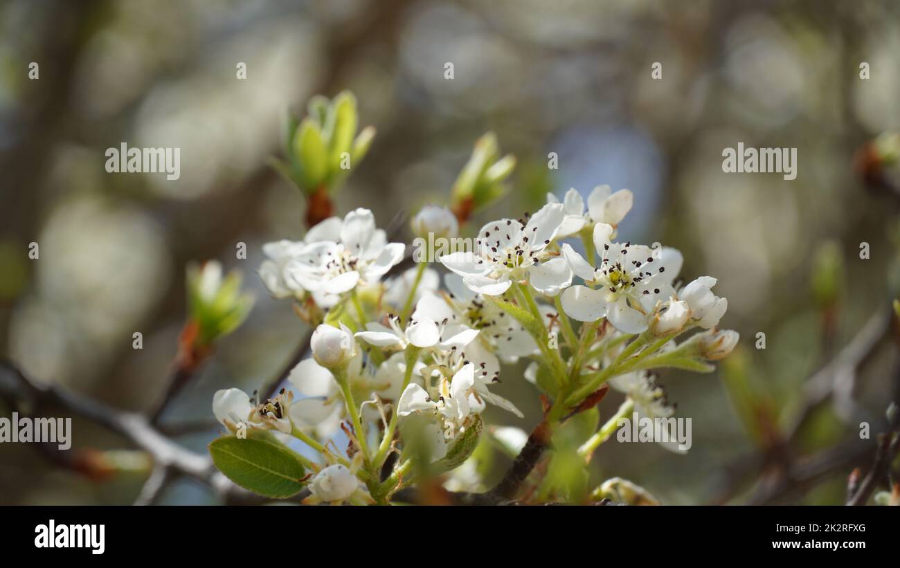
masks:
POLYGON ((613 227, 604 223, 594 227, 594 245, 600 255, 597 269, 572 246, 563 244, 563 256, 572 271, 591 286, 567 288, 563 310, 581 322, 606 316, 621 332, 641 333, 647 329, 646 314, 658 301, 674 296, 671 283, 683 260, 680 252, 669 247, 610 243, 612 231, 613 227))

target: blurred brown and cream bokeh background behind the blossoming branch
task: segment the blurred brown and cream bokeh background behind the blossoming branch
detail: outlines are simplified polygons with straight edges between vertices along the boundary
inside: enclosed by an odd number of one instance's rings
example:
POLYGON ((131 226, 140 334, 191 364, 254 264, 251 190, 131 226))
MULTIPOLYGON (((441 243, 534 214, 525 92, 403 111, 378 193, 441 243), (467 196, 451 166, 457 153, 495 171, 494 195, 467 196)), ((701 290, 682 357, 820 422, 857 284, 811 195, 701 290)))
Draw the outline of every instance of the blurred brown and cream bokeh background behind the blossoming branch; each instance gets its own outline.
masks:
MULTIPOLYGON (((867 323, 887 325, 872 316, 900 280, 889 171, 860 171, 866 143, 900 128, 896 2, 4 2, 0 353, 35 380, 149 410, 184 324, 186 263, 237 267, 257 304, 163 420, 203 452, 218 431, 212 393, 271 380, 305 333, 255 273, 261 244, 305 231, 302 193, 268 158, 281 152, 285 111, 343 89, 378 134, 338 195, 341 214, 373 209, 386 226, 398 211, 446 202, 491 130, 518 167, 474 226, 534 210, 546 191, 586 196, 608 183, 635 193, 623 239, 676 246, 685 277, 719 279, 738 351, 713 374, 660 377, 692 418, 689 455, 610 441, 595 481, 620 475, 665 503, 844 501, 887 423, 890 342, 867 351, 850 388, 804 409, 808 378, 867 323), (723 148, 739 141, 797 147, 797 179, 722 173, 723 148), (180 147, 181 178, 106 173, 103 152, 121 142, 180 147), (558 170, 547 169, 550 152, 558 170), (31 242, 40 260, 28 258, 31 242), (872 439, 860 440, 863 421, 872 439)), ((490 422, 530 430, 540 407, 520 374, 506 369, 497 390, 526 419, 491 409, 490 422)), ((619 402, 610 395, 601 412, 619 402)), ((72 451, 114 450, 119 471, 85 475, 4 444, 0 503, 134 501, 147 458, 91 422, 75 427, 72 451)), ((508 465, 497 457, 488 480, 508 465)), ((162 502, 217 498, 182 479, 162 502)))

